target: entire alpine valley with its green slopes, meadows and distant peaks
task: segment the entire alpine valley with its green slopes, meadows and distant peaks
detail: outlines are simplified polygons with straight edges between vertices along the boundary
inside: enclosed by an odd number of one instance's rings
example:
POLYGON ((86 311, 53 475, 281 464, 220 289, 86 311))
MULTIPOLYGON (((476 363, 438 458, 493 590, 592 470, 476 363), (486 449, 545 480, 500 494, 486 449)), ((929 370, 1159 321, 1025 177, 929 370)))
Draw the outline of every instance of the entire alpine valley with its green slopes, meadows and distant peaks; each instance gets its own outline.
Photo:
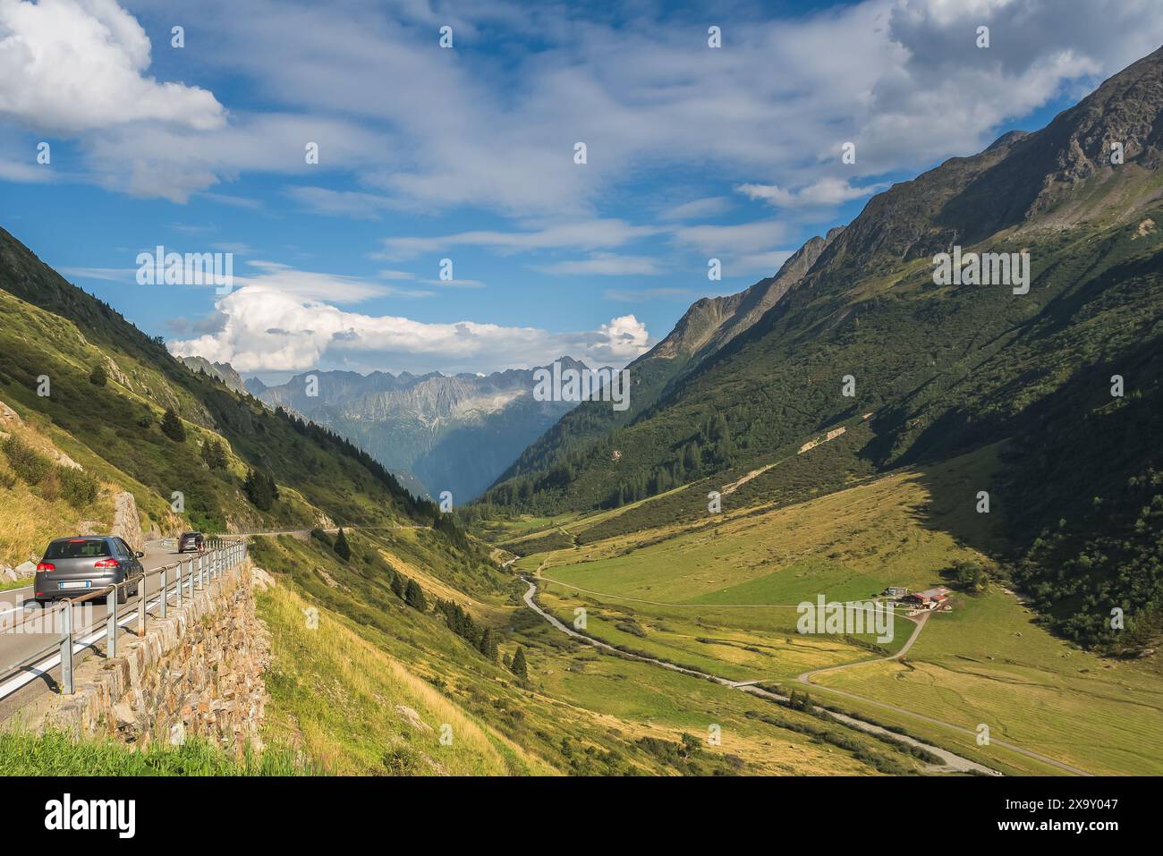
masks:
POLYGON ((262 761, 127 715, 0 729, 0 772, 1163 775, 1163 49, 826 226, 626 409, 267 386, 0 229, 0 570, 131 506, 247 538, 269 643, 262 761), (935 276, 1001 254, 1028 283, 935 276))

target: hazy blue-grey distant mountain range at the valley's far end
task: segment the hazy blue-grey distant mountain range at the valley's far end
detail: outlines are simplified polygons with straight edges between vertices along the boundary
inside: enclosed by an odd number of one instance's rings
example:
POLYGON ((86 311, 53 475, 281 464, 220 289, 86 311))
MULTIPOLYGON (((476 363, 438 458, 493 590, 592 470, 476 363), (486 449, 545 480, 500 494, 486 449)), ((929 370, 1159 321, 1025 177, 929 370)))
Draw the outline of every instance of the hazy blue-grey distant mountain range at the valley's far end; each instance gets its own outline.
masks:
MULTIPOLYGON (((570 357, 557 362, 563 369, 586 370, 584 363, 570 357)), ((237 377, 229 366, 197 368, 237 377)), ((534 400, 535 371, 509 369, 485 376, 311 371, 278 386, 249 378, 245 387, 271 406, 348 437, 400 473, 407 486, 418 486, 407 480, 406 473, 411 473, 430 497, 451 491, 454 502, 461 504, 487 488, 529 443, 575 406, 534 400)), ((222 379, 230 384, 227 377, 222 379)))

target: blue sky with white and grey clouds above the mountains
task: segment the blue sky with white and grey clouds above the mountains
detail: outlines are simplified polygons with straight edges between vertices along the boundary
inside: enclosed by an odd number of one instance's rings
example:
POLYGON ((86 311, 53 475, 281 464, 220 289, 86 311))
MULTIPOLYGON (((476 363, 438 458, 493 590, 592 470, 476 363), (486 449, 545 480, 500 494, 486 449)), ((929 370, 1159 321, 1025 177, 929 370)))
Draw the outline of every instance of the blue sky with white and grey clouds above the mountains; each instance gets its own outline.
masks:
POLYGON ((267 379, 621 364, 890 183, 1043 126, 1163 43, 1154 6, 0 0, 0 226, 267 379), (233 252, 234 290, 137 285, 158 244, 233 252))

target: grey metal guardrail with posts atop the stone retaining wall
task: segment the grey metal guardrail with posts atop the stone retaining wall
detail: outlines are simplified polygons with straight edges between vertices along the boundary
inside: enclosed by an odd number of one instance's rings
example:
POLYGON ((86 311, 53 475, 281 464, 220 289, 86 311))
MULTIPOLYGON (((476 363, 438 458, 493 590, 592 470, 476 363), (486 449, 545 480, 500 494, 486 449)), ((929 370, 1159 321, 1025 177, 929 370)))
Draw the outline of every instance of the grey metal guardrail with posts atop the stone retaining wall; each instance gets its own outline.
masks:
MULTIPOLYGON (((85 637, 100 634, 104 629, 106 640, 105 654, 107 657, 115 657, 117 656, 117 628, 120 626, 119 615, 124 615, 127 612, 131 612, 133 607, 130 607, 128 602, 128 592, 135 583, 137 585, 137 627, 135 630, 131 630, 131 633, 135 633, 135 635, 141 637, 145 635, 147 615, 151 608, 157 607, 158 618, 165 618, 171 598, 174 601, 174 606, 180 607, 185 598, 192 599, 195 591, 204 591, 213 580, 220 578, 226 571, 240 564, 245 558, 245 540, 233 541, 229 538, 215 538, 208 541, 207 549, 199 552, 197 556, 179 558, 172 564, 155 568, 151 571, 145 571, 134 577, 129 577, 116 585, 97 588, 76 598, 60 598, 50 607, 36 611, 35 614, 37 620, 44 621, 48 619, 51 626, 51 618, 53 613, 60 612, 63 628, 60 639, 45 644, 43 648, 38 649, 34 654, 24 656, 16 663, 0 668, 0 678, 34 666, 47 657, 51 657, 53 652, 59 651, 60 692, 64 694, 71 694, 74 690, 73 648, 78 644, 73 628, 73 607, 88 601, 94 601, 101 597, 105 598, 106 615, 86 629, 85 637), (185 573, 183 573, 184 565, 186 566, 185 573), (172 576, 170 575, 171 571, 173 571, 172 576), (160 580, 158 582, 158 590, 154 594, 148 595, 145 592, 145 582, 152 579, 154 577, 160 577, 160 580), (117 595, 122 588, 126 590, 127 602, 119 604, 117 595)), ((21 622, 27 621, 28 618, 30 616, 22 615, 21 622)), ((94 644, 94 642, 91 641, 87 643, 80 643, 80 650, 84 650, 91 644, 94 644)), ((48 672, 49 669, 44 669, 43 671, 48 672)))

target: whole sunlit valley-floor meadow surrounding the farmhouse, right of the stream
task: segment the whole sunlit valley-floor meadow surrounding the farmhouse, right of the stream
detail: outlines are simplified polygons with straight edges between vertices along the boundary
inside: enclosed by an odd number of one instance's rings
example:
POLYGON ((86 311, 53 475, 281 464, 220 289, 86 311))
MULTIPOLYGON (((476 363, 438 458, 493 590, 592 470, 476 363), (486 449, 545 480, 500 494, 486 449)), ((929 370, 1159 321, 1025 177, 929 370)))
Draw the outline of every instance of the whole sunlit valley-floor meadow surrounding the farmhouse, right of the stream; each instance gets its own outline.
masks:
MULTIPOLYGON (((978 746, 983 723, 997 740, 1087 772, 1163 772, 1163 761, 1144 751, 1163 744, 1163 675, 1154 661, 1104 658, 1053 636, 997 583, 978 594, 955 592, 954 609, 932 615, 901 661, 882 659, 914 629, 899 613, 893 641, 879 651, 868 635, 795 633, 794 605, 821 593, 868 599, 887 585, 948 584, 942 571, 957 559, 990 566, 978 548, 999 541, 973 499, 996 461, 989 448, 798 505, 535 554, 518 568, 538 572, 545 608, 568 623, 585 608, 586 632, 615 647, 733 680, 808 690, 1006 773, 1066 771, 978 746), (847 664, 813 677, 811 689, 798 680, 847 664)), ((642 690, 636 704, 651 692, 642 690)))

